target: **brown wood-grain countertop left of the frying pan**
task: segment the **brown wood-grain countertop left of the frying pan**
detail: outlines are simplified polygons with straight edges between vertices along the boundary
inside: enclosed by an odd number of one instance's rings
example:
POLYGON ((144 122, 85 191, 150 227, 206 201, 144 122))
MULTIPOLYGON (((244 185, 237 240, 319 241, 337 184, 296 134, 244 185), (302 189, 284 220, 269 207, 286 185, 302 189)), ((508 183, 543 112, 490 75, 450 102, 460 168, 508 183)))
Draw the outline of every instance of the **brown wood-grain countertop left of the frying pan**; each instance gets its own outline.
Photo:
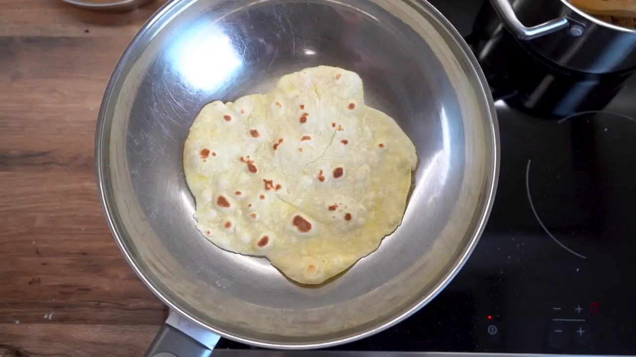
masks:
POLYGON ((167 316, 115 245, 93 173, 107 80, 160 3, 0 0, 0 356, 142 356, 167 316))

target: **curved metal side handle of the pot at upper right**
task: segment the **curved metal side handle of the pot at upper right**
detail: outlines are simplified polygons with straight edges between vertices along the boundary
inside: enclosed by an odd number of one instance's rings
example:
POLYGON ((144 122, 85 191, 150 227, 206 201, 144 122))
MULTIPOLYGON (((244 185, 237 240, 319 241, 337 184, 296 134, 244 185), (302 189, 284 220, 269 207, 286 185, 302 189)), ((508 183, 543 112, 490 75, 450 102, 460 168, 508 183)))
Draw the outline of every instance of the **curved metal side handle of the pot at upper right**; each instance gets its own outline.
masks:
POLYGON ((495 11, 497 11, 497 14, 501 17, 508 29, 519 39, 534 39, 568 27, 566 17, 555 18, 554 20, 532 27, 525 27, 516 17, 515 9, 510 4, 510 1, 511 0, 490 0, 490 3, 492 3, 492 7, 495 8, 495 11))

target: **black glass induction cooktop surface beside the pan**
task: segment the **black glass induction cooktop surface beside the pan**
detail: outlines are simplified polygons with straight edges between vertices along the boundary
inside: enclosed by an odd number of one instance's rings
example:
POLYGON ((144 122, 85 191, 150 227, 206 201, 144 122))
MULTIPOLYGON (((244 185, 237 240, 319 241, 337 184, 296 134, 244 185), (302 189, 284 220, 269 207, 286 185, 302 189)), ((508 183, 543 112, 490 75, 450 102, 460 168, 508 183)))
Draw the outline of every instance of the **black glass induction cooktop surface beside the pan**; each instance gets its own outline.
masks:
MULTIPOLYGON (((431 3, 464 35, 481 6, 431 3)), ((499 185, 466 266, 407 320, 333 349, 636 353, 636 76, 601 111, 555 118, 514 103, 495 103, 499 185)))

